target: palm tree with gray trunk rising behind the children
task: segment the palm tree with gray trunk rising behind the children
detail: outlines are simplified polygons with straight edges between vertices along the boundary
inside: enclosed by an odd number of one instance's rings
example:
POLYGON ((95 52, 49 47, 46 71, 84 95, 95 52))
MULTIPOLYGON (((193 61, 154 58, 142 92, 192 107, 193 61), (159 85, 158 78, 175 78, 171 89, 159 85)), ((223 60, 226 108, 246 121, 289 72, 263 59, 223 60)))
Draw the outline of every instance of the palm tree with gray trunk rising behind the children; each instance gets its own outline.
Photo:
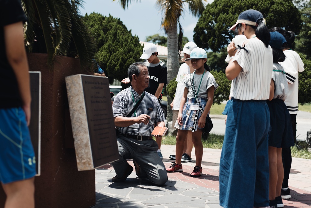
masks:
MULTIPOLYGON (((116 0, 113 0, 116 1, 116 0)), ((137 0, 138 1, 138 0, 137 0)), ((128 7, 131 0, 118 0, 123 9, 128 7)), ((206 0, 156 0, 156 4, 162 12, 162 27, 167 34, 167 81, 174 79, 179 70, 179 47, 178 43, 182 40, 182 27, 179 18, 183 14, 183 9, 188 4, 191 13, 199 17, 205 9, 204 2, 206 0), (179 25, 179 28, 178 28, 179 25), (177 30, 179 29, 179 37, 177 30)), ((167 97, 167 103, 171 103, 171 99, 167 97)), ((169 105, 168 105, 169 106, 169 105)), ((172 117, 171 108, 168 107, 168 119, 172 117)))

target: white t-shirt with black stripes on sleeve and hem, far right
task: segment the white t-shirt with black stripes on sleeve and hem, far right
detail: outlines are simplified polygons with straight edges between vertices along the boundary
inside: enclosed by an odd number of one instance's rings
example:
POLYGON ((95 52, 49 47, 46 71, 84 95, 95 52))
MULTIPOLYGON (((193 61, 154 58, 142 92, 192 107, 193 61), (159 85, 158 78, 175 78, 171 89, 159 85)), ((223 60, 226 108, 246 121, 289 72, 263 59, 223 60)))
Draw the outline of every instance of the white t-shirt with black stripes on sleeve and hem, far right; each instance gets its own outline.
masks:
POLYGON ((285 105, 290 114, 297 114, 298 111, 298 72, 304 71, 304 63, 299 54, 293 50, 285 50, 285 61, 279 62, 285 70, 288 84, 288 95, 285 105))

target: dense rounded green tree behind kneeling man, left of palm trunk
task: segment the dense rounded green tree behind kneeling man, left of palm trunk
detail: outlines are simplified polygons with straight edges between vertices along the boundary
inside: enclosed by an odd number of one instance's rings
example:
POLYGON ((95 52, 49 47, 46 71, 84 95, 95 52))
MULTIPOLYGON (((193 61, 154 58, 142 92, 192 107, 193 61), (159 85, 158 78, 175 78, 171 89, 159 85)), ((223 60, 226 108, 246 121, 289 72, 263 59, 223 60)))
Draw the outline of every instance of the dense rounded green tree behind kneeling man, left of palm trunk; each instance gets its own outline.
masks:
POLYGON ((143 46, 118 18, 91 13, 83 18, 95 38, 98 51, 95 59, 105 71, 109 83, 128 76, 128 67, 139 62, 143 46), (107 72, 107 73, 106 73, 107 72))

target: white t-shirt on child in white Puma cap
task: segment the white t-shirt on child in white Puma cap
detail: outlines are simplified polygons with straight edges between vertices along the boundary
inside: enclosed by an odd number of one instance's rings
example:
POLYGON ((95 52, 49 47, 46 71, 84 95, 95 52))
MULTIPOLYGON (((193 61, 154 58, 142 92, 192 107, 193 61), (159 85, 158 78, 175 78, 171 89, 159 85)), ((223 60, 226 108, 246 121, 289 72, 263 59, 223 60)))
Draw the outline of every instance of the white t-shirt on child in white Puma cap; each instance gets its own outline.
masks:
POLYGON ((175 92, 175 99, 173 110, 179 110, 181 98, 183 97, 183 92, 185 90, 185 86, 183 86, 183 79, 190 74, 190 67, 188 64, 183 63, 179 67, 179 71, 176 77, 177 87, 175 92))

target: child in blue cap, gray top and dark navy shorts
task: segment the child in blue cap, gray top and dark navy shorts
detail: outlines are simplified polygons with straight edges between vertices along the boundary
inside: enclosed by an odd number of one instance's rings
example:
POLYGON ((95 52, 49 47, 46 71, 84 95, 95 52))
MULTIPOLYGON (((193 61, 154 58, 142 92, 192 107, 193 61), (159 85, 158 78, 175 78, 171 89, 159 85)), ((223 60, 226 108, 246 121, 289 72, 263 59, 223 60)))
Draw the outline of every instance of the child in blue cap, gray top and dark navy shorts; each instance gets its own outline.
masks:
POLYGON ((285 60, 283 53, 286 40, 279 32, 270 32, 270 46, 273 53, 273 72, 270 84, 270 98, 267 101, 270 111, 269 130, 269 200, 270 207, 284 207, 281 187, 284 177, 282 148, 294 146, 290 114, 284 100, 288 94, 288 84, 283 67, 278 62, 285 60))

